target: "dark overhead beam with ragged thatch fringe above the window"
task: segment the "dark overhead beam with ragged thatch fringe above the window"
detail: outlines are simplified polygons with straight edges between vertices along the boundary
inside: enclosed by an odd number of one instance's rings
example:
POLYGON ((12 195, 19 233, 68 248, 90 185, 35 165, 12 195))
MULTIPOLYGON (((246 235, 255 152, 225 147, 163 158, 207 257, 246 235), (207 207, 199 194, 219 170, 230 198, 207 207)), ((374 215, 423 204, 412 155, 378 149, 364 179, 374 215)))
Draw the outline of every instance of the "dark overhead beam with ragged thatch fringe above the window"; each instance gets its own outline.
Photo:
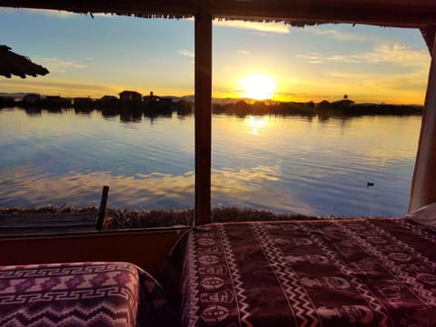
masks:
POLYGON ((0 0, 0 6, 164 18, 207 11, 218 19, 281 21, 291 25, 436 25, 435 0, 0 0))

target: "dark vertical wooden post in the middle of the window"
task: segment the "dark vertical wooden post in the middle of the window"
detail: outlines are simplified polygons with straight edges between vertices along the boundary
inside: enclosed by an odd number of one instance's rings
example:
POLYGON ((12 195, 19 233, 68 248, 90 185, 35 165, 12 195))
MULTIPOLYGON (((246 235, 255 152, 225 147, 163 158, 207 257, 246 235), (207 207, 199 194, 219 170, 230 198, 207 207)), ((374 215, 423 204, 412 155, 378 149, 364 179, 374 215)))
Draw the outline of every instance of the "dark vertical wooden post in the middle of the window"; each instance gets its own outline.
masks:
POLYGON ((195 224, 211 222, 212 15, 195 15, 195 224))

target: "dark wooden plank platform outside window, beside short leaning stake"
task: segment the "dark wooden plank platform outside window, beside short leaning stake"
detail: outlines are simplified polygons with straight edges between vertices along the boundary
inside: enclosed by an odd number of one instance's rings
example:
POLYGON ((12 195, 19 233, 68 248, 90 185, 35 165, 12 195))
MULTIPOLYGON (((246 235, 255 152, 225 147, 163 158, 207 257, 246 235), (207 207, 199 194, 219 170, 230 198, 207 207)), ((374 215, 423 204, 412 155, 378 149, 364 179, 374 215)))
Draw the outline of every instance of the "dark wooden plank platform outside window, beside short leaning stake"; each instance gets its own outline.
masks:
POLYGON ((95 231, 97 211, 0 214, 0 237, 95 231))

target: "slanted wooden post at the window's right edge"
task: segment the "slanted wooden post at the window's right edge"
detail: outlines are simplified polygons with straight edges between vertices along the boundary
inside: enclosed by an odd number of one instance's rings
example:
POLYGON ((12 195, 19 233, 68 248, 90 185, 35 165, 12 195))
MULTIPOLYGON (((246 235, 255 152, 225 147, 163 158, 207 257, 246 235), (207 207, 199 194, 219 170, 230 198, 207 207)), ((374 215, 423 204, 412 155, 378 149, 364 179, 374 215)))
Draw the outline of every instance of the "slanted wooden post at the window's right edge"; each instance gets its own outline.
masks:
POLYGON ((431 50, 427 94, 422 113, 420 143, 411 182, 409 213, 436 202, 436 38, 431 50))

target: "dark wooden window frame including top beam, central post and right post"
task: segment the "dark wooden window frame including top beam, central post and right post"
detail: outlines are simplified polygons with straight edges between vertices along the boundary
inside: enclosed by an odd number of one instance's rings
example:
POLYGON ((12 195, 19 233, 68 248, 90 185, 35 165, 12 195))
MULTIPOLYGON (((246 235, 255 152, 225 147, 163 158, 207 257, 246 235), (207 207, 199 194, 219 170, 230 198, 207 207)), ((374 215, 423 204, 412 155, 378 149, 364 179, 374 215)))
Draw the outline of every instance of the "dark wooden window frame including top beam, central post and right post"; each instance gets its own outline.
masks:
POLYGON ((195 222, 211 221, 212 19, 281 21, 291 25, 349 23, 419 28, 431 51, 421 137, 409 210, 436 201, 436 1, 434 0, 0 0, 1 6, 195 17, 195 222), (430 40, 430 41, 429 41, 430 40), (431 46, 432 45, 432 46, 431 46), (433 168, 435 167, 435 168, 433 168))

